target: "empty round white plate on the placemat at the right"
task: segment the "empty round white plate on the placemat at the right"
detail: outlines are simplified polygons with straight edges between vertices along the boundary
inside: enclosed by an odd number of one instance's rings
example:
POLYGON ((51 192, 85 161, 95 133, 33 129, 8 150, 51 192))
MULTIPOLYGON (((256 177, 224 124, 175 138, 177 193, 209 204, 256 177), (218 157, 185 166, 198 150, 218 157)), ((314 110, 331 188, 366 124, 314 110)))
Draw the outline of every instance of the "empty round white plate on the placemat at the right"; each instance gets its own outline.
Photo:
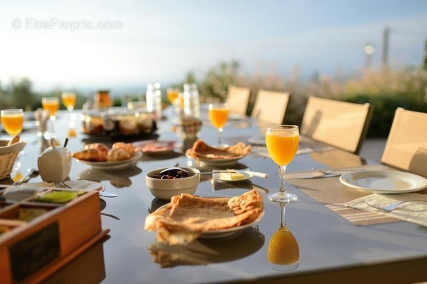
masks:
POLYGON ((348 187, 364 189, 375 194, 402 194, 427 187, 426 178, 398 170, 361 170, 345 173, 339 180, 348 187))

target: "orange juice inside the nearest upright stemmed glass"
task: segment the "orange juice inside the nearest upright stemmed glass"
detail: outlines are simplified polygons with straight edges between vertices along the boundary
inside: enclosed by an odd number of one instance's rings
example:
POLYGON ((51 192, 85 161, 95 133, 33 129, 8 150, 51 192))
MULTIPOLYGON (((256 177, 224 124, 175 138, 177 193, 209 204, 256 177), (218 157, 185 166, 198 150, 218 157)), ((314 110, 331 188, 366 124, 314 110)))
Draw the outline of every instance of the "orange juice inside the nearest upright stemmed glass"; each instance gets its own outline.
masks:
POLYGON ((277 165, 288 165, 298 150, 299 135, 294 131, 265 133, 265 144, 272 161, 277 165))

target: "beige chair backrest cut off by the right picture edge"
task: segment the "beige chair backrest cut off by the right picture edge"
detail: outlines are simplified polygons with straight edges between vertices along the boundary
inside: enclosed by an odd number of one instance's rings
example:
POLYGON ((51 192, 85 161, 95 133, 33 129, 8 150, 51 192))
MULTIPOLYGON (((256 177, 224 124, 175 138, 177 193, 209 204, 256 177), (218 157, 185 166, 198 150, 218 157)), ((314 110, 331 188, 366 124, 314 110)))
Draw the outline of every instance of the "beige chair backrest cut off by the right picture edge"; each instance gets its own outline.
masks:
POLYGON ((398 108, 381 163, 427 177, 427 114, 398 108))

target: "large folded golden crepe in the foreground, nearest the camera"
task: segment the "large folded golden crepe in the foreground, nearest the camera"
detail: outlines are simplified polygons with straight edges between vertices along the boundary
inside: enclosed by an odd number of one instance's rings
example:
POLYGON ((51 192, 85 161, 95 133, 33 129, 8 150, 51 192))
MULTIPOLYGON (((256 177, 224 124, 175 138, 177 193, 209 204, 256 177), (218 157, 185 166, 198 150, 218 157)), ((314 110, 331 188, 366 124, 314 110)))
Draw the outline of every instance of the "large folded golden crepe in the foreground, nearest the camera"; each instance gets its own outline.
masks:
POLYGON ((171 203, 145 218, 144 229, 157 231, 157 241, 185 245, 204 231, 216 231, 253 222, 263 212, 263 198, 256 190, 232 198, 173 196, 171 203))

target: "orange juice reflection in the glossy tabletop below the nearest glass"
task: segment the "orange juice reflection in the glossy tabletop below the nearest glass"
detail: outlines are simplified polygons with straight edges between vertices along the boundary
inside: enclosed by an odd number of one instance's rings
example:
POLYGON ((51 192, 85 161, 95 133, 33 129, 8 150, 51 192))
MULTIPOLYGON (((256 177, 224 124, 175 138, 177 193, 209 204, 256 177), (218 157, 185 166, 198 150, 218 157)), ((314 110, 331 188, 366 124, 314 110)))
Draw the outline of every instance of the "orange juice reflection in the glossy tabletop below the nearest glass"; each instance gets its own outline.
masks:
POLYGON ((270 238, 267 250, 268 262, 278 265, 299 262, 299 248, 294 235, 286 227, 275 231, 270 238))

